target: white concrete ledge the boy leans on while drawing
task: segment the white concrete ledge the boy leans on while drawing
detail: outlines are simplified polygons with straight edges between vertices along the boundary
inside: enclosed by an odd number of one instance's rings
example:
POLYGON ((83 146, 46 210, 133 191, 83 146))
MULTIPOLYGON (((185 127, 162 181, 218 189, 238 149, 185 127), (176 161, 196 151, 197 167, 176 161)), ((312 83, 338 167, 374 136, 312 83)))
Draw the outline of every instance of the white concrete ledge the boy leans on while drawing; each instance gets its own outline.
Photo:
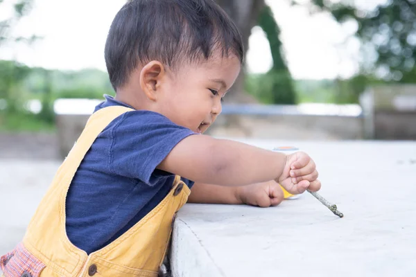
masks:
POLYGON ((314 157, 321 195, 345 217, 308 193, 272 208, 186 204, 175 221, 173 276, 415 274, 416 142, 296 145, 314 157))

